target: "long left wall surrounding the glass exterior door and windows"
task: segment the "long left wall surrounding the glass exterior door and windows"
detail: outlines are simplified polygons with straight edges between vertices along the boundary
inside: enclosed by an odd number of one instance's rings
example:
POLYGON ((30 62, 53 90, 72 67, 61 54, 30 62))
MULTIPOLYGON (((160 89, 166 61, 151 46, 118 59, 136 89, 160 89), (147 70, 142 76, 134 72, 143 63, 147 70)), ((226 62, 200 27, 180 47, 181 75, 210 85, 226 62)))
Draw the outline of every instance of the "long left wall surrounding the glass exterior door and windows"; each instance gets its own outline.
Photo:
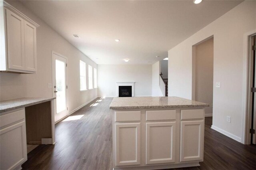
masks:
MULTIPOLYGON (((68 57, 68 108, 69 111, 97 97, 97 89, 80 92, 79 60, 96 67, 91 59, 52 30, 40 18, 32 14, 20 2, 7 1, 40 25, 37 36, 37 73, 36 74, 0 74, 0 99, 8 100, 20 97, 52 97, 52 51, 68 57)), ((87 67, 88 69, 88 67, 87 67)), ((88 71, 87 71, 88 73, 88 71)), ((88 81, 87 81, 88 83, 88 81)), ((87 85, 88 87, 88 85, 87 85)))

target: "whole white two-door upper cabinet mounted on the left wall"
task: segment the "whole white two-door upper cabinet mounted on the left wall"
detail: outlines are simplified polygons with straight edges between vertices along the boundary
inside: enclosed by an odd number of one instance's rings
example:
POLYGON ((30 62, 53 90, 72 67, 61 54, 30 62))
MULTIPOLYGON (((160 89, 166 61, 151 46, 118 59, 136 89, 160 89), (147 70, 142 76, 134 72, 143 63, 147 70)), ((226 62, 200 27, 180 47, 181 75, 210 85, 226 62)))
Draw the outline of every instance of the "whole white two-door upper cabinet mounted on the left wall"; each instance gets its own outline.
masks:
POLYGON ((36 73, 36 28, 34 21, 4 2, 6 56, 0 71, 36 73))

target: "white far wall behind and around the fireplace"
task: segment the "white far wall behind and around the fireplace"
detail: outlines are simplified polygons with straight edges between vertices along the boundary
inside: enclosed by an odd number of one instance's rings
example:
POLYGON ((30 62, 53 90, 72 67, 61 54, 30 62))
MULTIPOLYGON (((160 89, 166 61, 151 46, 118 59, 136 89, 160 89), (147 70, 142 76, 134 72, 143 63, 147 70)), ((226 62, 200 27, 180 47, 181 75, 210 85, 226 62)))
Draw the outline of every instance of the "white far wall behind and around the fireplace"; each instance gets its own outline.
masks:
POLYGON ((116 97, 116 82, 135 82, 134 96, 151 96, 151 65, 98 65, 98 96, 116 97))

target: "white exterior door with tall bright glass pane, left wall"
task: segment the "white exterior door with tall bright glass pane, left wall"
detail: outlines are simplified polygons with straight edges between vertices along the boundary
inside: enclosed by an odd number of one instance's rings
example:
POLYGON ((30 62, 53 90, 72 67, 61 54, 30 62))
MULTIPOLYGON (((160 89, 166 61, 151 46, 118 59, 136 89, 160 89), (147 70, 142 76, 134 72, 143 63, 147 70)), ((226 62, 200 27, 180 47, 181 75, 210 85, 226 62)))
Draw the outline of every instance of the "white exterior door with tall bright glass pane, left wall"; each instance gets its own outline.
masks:
POLYGON ((68 115, 67 59, 53 53, 55 122, 68 115))

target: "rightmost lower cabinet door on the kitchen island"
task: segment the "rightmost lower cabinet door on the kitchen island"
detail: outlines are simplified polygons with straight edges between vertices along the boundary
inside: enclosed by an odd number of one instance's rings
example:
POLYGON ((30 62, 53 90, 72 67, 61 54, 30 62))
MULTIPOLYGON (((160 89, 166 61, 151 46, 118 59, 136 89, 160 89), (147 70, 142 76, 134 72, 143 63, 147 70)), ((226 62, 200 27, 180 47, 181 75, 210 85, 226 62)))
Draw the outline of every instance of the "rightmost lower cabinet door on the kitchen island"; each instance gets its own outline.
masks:
POLYGON ((180 162, 203 160, 204 121, 181 121, 180 128, 180 162))

